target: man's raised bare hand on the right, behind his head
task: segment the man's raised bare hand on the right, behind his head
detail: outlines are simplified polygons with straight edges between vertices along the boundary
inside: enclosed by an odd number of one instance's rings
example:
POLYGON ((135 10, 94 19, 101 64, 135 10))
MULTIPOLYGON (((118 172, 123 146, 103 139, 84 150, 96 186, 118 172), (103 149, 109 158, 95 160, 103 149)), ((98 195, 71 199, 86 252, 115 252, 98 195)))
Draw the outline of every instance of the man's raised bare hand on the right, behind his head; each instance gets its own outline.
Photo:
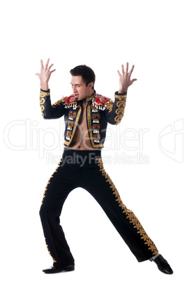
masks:
POLYGON ((124 71, 124 64, 121 65, 121 72, 119 71, 119 94, 122 94, 124 92, 127 92, 127 89, 130 85, 133 84, 133 82, 135 82, 137 79, 133 79, 130 80, 130 76, 133 73, 133 69, 134 69, 134 65, 132 66, 132 68, 130 69, 129 73, 128 73, 128 62, 126 63, 126 72, 124 71))

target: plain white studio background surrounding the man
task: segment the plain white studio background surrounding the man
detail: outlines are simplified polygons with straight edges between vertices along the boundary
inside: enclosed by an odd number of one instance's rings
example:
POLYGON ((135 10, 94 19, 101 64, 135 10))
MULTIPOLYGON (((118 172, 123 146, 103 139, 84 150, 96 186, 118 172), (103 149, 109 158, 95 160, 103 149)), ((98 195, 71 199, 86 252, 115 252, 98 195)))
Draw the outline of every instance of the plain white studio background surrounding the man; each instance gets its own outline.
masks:
POLYGON ((184 280, 185 7, 181 0, 1 4, 3 280, 184 280), (71 94, 69 70, 78 64, 95 71, 96 91, 112 99, 119 85, 117 70, 126 62, 135 64, 132 78, 137 81, 128 90, 124 119, 108 127, 115 141, 106 141, 103 156, 112 155, 113 160, 104 165, 124 204, 140 219, 174 275, 160 273, 149 261, 138 263, 84 189, 70 194, 61 215, 76 270, 52 276, 42 272, 52 266, 52 258, 38 212, 63 152, 63 118, 43 120, 40 113, 35 73, 40 59, 45 62, 48 57, 57 69, 50 80, 52 103, 71 94), (126 137, 133 138, 122 142, 125 130, 126 137), (147 130, 142 139, 141 130, 147 130), (140 153, 147 164, 138 159, 140 153), (114 164, 117 154, 125 155, 126 161, 114 164), (47 162, 49 155, 53 158, 47 162))

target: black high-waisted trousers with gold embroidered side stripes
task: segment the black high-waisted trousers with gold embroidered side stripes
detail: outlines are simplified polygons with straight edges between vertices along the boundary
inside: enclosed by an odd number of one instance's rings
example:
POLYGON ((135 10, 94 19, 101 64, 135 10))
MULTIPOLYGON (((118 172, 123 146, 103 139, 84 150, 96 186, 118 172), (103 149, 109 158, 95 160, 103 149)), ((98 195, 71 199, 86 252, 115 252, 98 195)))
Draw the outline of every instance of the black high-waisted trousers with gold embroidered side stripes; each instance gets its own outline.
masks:
POLYGON ((150 259, 158 250, 105 172, 100 150, 64 148, 61 161, 45 187, 40 219, 47 250, 54 266, 74 264, 73 254, 60 225, 63 203, 75 188, 82 187, 98 201, 137 261, 150 259))

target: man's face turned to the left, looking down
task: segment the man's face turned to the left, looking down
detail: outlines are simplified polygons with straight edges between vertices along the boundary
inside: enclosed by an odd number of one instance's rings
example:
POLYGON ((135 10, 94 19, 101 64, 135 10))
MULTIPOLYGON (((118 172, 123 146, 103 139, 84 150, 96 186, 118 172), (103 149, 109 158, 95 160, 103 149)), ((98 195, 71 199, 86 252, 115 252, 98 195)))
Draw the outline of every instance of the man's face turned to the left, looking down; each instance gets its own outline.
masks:
POLYGON ((82 76, 71 76, 70 82, 73 94, 77 101, 82 99, 87 99, 88 96, 91 96, 91 87, 93 83, 90 83, 88 86, 82 81, 82 76))

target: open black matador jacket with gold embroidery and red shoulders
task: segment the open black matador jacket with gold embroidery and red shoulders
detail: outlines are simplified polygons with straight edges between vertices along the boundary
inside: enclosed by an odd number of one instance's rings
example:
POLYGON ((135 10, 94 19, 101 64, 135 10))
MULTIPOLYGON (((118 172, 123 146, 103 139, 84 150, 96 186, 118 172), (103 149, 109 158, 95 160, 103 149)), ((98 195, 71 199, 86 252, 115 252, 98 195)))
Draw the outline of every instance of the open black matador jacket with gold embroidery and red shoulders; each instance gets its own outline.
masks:
MULTIPOLYGON (((105 142, 107 122, 117 125, 124 116, 127 93, 115 92, 114 101, 93 93, 88 98, 87 127, 91 146, 95 149, 102 148, 105 142)), ((82 101, 77 101, 74 95, 63 97, 53 105, 50 99, 50 90, 40 89, 40 108, 44 119, 57 119, 64 115, 65 131, 64 145, 70 145, 75 135, 77 124, 82 113, 82 101)))

